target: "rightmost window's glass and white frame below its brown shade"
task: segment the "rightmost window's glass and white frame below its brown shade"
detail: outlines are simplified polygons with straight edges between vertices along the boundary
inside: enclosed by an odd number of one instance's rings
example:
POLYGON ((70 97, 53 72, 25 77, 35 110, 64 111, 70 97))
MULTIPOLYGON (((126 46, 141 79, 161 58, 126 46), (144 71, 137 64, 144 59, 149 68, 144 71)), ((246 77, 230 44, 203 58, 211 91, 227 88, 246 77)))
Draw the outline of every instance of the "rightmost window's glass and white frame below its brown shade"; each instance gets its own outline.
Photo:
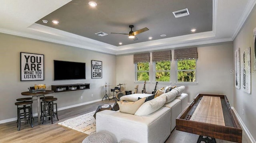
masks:
POLYGON ((196 82, 196 59, 176 61, 177 82, 196 82))

